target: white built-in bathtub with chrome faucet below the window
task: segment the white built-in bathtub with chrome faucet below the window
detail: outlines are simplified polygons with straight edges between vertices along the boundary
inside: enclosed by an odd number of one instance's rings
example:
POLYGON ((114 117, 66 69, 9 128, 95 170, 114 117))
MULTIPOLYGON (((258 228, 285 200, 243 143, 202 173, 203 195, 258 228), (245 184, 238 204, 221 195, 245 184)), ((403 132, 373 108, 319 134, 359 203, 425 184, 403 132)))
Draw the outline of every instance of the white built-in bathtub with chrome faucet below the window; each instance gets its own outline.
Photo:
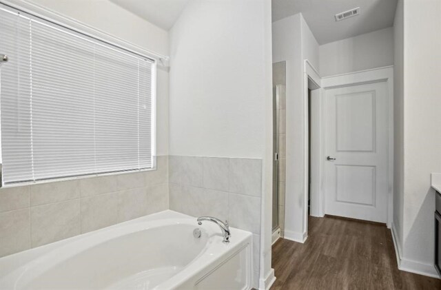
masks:
POLYGON ((252 234, 231 231, 225 244, 214 223, 162 211, 0 258, 0 289, 250 289, 252 234))

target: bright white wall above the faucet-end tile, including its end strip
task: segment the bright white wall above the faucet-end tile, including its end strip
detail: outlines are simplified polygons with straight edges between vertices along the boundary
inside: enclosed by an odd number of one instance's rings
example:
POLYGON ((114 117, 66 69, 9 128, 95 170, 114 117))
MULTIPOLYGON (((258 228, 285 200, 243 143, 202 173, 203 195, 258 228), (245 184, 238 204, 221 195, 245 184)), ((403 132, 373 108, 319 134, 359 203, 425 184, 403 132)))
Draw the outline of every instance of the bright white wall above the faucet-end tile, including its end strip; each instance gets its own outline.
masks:
POLYGON ((170 30, 170 154, 263 160, 260 283, 271 273, 270 15, 266 0, 193 0, 170 30))

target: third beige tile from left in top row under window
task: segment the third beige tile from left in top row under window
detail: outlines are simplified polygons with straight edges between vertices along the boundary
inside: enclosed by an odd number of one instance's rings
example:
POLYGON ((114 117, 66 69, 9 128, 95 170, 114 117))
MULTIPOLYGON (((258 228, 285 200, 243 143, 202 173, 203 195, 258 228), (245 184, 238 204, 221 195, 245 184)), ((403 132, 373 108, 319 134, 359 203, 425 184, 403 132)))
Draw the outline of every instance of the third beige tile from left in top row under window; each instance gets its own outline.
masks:
POLYGON ((115 175, 84 178, 80 180, 81 196, 94 196, 118 191, 115 175))

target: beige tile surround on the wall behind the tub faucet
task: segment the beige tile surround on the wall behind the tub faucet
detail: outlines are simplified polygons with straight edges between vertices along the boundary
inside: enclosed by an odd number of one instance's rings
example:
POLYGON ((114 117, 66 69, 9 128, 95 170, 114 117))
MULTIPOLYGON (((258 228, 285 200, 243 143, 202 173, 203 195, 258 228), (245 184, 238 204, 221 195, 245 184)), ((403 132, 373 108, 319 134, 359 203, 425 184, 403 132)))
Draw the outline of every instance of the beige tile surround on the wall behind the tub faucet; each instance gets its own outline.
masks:
POLYGON ((253 233, 254 278, 260 265, 262 160, 169 156, 170 209, 214 216, 253 233))

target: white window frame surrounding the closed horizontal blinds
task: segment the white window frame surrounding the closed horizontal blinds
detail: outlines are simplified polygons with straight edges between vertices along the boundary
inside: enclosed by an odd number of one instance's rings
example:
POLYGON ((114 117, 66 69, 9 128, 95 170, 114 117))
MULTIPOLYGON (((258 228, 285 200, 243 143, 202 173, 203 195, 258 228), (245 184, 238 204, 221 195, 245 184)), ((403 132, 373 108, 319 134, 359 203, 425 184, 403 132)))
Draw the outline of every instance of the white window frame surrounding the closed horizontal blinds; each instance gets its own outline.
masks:
MULTIPOLYGON (((47 21, 51 25, 59 26, 62 30, 72 31, 78 34, 82 34, 85 37, 90 37, 95 39, 96 41, 101 41, 105 45, 109 45, 110 47, 116 47, 120 50, 124 50, 129 52, 130 54, 136 54, 141 56, 142 58, 149 59, 152 61, 152 112, 151 112, 151 148, 152 148, 152 168, 142 168, 142 169, 128 169, 122 171, 114 171, 114 172, 100 172, 100 173, 92 173, 92 174, 83 174, 77 176, 65 176, 65 177, 54 177, 54 178, 46 178, 41 180, 29 180, 17 183, 8 183, 4 184, 3 180, 3 156, 1 150, 1 127, 0 127, 0 187, 19 187, 25 185, 34 185, 41 183, 53 183, 59 181, 66 180, 77 180, 83 178, 91 178, 98 176, 113 176, 120 174, 130 174, 135 172, 150 172, 157 170, 157 155, 156 155, 156 98, 157 98, 157 66, 158 61, 163 63, 164 61, 168 61, 168 56, 163 56, 161 54, 157 54, 156 52, 152 52, 150 50, 145 50, 140 48, 139 46, 133 45, 132 43, 128 43, 123 39, 119 39, 117 37, 112 36, 111 34, 107 34, 102 32, 101 30, 97 30, 96 28, 92 28, 89 25, 76 21, 74 19, 70 19, 56 12, 52 12, 51 10, 47 10, 41 6, 37 6, 33 3, 23 2, 19 5, 15 3, 10 3, 8 1, 0 0, 0 8, 5 10, 10 10, 16 13, 27 14, 28 17, 37 18, 42 21, 47 21)), ((1 63, 0 63, 1 66, 1 63)), ((1 68, 0 68, 1 69, 1 68)), ((0 112, 1 114, 1 112, 0 112)))

